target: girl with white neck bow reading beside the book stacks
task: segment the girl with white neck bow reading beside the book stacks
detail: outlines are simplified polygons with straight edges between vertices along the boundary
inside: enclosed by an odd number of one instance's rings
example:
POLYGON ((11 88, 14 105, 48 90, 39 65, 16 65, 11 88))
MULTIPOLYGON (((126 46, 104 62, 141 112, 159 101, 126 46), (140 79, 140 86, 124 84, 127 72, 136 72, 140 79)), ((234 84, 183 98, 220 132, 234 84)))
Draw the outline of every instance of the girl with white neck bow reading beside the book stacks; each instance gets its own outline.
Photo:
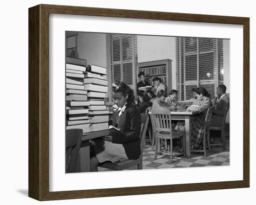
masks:
POLYGON ((112 125, 120 128, 126 136, 107 135, 93 140, 90 158, 92 172, 98 171, 98 165, 105 161, 114 163, 125 159, 136 160, 141 154, 141 115, 133 105, 134 92, 120 81, 113 83, 112 92, 115 104, 118 106, 113 112, 112 125))

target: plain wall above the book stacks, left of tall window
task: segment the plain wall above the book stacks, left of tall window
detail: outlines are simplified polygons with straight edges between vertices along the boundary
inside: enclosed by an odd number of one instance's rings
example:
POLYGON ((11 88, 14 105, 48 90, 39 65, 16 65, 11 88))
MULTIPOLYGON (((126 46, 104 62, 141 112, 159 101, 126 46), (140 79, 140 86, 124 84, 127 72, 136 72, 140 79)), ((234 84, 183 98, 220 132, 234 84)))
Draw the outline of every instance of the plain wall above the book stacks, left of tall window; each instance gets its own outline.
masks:
POLYGON ((87 64, 107 67, 106 34, 78 33, 78 56, 87 60, 87 64))

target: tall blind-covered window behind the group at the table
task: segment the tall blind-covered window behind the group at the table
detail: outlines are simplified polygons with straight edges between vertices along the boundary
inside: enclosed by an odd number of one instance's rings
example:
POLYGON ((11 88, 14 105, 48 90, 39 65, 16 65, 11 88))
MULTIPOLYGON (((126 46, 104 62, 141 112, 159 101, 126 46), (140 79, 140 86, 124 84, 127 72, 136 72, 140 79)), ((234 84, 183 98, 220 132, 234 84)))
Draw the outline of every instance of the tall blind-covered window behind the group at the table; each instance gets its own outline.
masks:
POLYGON ((176 53, 179 101, 192 98, 192 88, 199 86, 215 96, 223 84, 223 40, 177 37, 176 53))

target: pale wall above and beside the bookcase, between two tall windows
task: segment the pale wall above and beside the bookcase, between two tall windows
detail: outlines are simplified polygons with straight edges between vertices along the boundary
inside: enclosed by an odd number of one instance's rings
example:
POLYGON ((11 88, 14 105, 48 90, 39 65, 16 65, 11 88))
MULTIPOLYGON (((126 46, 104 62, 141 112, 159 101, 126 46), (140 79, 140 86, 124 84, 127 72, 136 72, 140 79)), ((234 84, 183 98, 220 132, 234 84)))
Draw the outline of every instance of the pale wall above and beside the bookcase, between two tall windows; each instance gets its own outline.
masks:
POLYGON ((138 63, 153 60, 172 60, 172 89, 176 89, 175 37, 142 36, 137 38, 138 63))

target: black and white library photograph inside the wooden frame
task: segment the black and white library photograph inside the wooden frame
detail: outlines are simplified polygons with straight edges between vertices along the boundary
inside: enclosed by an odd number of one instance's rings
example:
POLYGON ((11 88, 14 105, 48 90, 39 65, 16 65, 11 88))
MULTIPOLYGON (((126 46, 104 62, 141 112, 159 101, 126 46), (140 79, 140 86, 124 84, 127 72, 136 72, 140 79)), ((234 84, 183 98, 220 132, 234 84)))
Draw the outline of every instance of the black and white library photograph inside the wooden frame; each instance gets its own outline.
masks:
POLYGON ((229 166, 230 39, 66 31, 65 45, 66 173, 229 166))

